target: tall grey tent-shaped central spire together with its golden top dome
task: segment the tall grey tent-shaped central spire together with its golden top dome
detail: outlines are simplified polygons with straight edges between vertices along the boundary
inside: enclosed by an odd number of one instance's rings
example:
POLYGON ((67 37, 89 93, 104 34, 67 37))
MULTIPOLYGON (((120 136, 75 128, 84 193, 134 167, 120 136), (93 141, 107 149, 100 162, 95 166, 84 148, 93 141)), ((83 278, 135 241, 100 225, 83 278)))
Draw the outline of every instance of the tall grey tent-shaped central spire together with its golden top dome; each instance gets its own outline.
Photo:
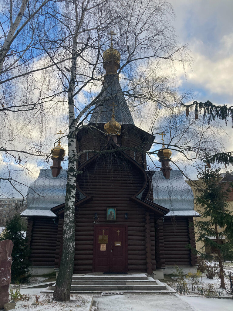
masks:
POLYGON ((117 69, 120 68, 120 53, 111 47, 103 53, 103 58, 103 67, 106 69, 104 86, 102 88, 103 94, 98 99, 89 123, 107 123, 111 120, 112 108, 114 108, 115 120, 117 122, 134 125, 117 74, 117 69), (112 103, 114 103, 114 107, 112 103))

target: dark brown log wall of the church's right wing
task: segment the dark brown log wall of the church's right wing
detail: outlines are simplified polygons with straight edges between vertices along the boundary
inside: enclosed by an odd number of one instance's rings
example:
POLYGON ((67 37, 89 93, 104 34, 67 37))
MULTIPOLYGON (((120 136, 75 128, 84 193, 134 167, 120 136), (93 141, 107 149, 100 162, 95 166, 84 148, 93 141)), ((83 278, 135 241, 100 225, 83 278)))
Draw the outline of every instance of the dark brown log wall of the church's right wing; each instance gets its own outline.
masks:
POLYGON ((188 217, 164 217, 163 221, 164 256, 166 266, 190 265, 190 243, 188 217))

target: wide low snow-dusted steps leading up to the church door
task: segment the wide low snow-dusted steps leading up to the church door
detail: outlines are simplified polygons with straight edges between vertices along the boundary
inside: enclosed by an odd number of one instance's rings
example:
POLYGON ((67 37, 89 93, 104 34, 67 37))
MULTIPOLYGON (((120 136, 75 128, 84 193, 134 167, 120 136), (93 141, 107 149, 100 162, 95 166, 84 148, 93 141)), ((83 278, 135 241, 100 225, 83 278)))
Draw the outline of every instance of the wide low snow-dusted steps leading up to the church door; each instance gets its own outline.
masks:
MULTIPOLYGON (((42 293, 53 292, 54 285, 48 286, 42 293)), ((154 280, 144 273, 74 274, 71 285, 72 293, 102 293, 102 292, 162 292, 171 293, 165 283, 154 280)))

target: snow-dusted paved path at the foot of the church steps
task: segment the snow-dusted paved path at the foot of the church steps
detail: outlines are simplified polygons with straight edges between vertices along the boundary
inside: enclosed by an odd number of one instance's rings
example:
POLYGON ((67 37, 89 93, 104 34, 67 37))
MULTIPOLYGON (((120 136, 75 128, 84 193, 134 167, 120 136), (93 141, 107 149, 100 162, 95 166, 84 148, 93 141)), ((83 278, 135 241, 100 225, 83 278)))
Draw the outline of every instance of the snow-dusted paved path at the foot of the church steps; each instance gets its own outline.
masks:
POLYGON ((162 294, 94 295, 93 311, 232 311, 233 300, 162 294))

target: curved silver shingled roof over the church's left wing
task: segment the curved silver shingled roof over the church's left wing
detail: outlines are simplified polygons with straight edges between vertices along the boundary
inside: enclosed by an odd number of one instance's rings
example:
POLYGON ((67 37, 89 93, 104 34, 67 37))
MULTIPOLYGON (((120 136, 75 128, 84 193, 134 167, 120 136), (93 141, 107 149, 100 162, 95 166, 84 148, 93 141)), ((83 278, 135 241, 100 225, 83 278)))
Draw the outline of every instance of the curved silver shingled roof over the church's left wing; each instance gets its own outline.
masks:
POLYGON ((55 178, 51 169, 41 169, 38 179, 28 188, 27 210, 50 210, 52 207, 64 203, 66 182, 66 169, 61 169, 60 174, 55 178))

